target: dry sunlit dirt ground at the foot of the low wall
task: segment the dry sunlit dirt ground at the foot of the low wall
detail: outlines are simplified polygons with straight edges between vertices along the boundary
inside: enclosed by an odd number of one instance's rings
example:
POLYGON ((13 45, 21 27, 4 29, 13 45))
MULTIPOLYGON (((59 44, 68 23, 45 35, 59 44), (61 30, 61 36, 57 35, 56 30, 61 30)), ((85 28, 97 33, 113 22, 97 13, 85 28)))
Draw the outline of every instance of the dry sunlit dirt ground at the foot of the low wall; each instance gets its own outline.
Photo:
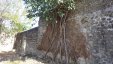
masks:
POLYGON ((0 64, 54 64, 49 59, 42 59, 32 56, 19 56, 15 52, 0 53, 0 64))

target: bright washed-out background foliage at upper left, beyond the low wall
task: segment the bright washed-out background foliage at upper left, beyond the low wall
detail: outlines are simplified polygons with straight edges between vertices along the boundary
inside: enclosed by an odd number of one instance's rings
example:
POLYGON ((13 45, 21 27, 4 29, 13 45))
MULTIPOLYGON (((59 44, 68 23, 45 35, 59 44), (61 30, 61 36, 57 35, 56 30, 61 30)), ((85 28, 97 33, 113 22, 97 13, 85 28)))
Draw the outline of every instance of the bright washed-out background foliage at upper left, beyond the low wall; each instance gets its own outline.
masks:
POLYGON ((0 2, 0 19, 2 19, 2 22, 0 20, 0 30, 2 32, 15 34, 31 28, 31 26, 28 25, 31 20, 26 18, 27 12, 22 2, 22 0, 4 0, 0 2), (4 24, 2 24, 3 22, 4 24), (11 23, 11 25, 5 25, 5 23, 11 23), (7 25, 9 27, 6 27, 7 25))

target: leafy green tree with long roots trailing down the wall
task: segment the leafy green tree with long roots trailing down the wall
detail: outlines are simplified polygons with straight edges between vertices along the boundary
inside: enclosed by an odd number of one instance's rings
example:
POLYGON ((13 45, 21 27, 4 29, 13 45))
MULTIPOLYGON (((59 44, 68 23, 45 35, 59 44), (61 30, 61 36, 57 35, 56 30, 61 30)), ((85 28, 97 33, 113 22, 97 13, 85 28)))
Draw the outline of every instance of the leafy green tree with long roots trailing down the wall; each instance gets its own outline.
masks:
MULTIPOLYGON (((54 60, 58 54, 61 55, 60 62, 62 64, 62 56, 65 56, 65 64, 69 64, 69 59, 76 61, 75 47, 70 44, 66 36, 68 17, 75 10, 75 0, 24 0, 28 11, 27 17, 32 18, 39 16, 46 21, 47 29, 42 38, 40 49, 52 52, 54 60), (48 44, 47 44, 48 43, 48 44), (44 48, 47 47, 46 49, 44 48), (72 50, 74 51, 72 53, 72 50), (73 55, 73 56, 71 56, 73 55)), ((83 45, 84 47, 84 45, 83 45)), ((76 62, 75 62, 76 63, 76 62)))

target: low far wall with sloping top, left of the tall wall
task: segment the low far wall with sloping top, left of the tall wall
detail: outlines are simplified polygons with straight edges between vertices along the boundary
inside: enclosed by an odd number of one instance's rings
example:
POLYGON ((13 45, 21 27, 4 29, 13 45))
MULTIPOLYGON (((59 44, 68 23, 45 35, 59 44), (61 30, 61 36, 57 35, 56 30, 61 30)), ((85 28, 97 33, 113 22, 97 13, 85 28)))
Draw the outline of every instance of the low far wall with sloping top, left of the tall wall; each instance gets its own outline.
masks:
POLYGON ((36 54, 37 51, 37 37, 38 37, 38 27, 31 30, 18 33, 15 37, 14 49, 16 52, 25 55, 25 54, 36 54))

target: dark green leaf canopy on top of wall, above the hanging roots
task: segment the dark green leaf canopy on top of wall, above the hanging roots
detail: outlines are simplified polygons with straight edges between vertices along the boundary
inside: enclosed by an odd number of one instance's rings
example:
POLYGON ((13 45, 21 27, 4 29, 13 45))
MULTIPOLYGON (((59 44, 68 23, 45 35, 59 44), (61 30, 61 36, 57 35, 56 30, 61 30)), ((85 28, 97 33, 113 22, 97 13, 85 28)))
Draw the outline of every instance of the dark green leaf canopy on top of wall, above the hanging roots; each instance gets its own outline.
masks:
POLYGON ((58 20, 75 9, 75 0, 24 0, 28 18, 39 16, 46 21, 58 20))

